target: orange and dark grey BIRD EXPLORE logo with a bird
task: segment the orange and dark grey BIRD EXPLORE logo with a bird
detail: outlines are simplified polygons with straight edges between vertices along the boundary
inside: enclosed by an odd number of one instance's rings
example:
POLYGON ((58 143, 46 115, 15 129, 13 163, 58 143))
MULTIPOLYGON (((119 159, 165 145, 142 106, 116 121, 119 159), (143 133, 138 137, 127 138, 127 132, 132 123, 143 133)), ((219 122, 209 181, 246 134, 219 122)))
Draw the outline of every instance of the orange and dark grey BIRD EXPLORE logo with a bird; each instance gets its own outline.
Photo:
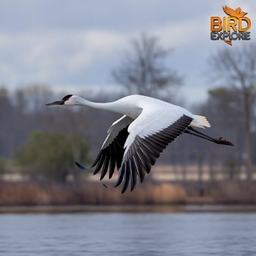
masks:
POLYGON ((230 7, 222 7, 227 17, 211 17, 211 40, 222 40, 228 45, 232 45, 235 40, 249 40, 251 32, 251 20, 247 17, 247 12, 241 12, 241 8, 236 10, 230 7))

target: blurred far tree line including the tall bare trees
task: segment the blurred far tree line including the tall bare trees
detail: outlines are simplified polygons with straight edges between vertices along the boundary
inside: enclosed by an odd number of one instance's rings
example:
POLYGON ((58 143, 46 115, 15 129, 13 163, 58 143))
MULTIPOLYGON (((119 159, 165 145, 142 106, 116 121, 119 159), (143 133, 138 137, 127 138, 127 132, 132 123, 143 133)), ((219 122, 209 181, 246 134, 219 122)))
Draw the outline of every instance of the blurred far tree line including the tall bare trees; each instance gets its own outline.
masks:
MULTIPOLYGON (((132 41, 130 50, 129 58, 124 57, 112 74, 124 86, 123 92, 99 95, 91 100, 107 102, 131 93, 173 99, 172 90, 181 86, 183 78, 165 66, 169 52, 159 45, 157 38, 143 34, 132 41)), ((211 56, 208 67, 213 75, 211 80, 217 83, 208 91, 206 102, 190 108, 193 113, 208 117, 212 124, 207 129, 209 135, 223 136, 235 147, 182 135, 162 153, 159 164, 184 165, 185 169, 187 165, 204 163, 213 171, 218 165, 230 173, 230 178, 236 178, 245 166, 247 178, 252 179, 256 160, 255 53, 255 45, 250 45, 211 56)), ((88 95, 88 91, 80 93, 87 99, 88 95)), ((69 173, 76 175, 74 159, 89 165, 96 157, 108 127, 118 115, 84 107, 45 106, 46 102, 63 96, 40 84, 12 92, 7 87, 0 88, 0 174, 6 170, 6 159, 12 159, 11 165, 18 162, 24 166, 23 171, 29 169, 31 177, 63 180, 69 173), (59 159, 57 164, 50 160, 53 156, 59 159), (38 158, 41 162, 33 162, 38 158), (63 175, 59 177, 53 170, 61 170, 63 175)))

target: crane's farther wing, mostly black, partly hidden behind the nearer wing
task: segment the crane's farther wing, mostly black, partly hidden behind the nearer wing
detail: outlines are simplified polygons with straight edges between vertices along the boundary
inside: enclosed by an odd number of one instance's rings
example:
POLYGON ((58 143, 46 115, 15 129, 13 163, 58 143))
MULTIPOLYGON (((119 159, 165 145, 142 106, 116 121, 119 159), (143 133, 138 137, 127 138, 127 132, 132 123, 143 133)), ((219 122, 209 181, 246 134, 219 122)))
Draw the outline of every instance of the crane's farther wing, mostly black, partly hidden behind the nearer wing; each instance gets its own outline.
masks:
POLYGON ((121 167, 124 156, 124 143, 129 133, 127 132, 129 124, 133 121, 129 116, 122 116, 115 121, 108 129, 108 137, 102 145, 97 158, 91 167, 95 167, 94 174, 102 170, 100 180, 105 177, 109 170, 109 178, 113 176, 114 170, 121 167))

